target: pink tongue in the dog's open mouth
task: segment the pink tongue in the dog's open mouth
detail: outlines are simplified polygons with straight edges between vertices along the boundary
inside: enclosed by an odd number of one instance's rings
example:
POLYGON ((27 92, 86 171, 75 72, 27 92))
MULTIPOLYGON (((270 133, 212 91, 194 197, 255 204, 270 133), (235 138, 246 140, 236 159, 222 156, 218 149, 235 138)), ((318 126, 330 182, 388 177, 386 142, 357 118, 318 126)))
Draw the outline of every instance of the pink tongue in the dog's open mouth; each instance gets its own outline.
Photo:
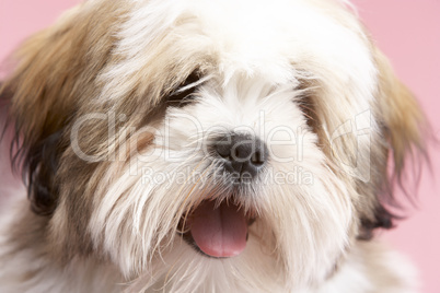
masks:
POLYGON ((190 233, 201 251, 212 257, 233 257, 246 247, 247 223, 243 209, 213 201, 202 202, 194 212, 190 233))

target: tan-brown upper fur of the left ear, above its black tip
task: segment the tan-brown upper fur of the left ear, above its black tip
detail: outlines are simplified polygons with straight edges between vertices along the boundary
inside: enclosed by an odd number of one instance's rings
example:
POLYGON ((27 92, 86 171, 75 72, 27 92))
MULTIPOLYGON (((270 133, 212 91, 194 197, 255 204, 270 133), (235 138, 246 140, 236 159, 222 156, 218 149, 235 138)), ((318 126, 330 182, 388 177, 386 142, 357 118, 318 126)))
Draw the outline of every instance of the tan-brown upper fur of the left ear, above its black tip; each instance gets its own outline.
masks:
POLYGON ((57 130, 97 90, 94 78, 108 62, 105 57, 115 42, 108 28, 123 13, 111 2, 84 3, 16 52, 18 67, 4 87, 14 92, 11 113, 19 117, 24 143, 57 130), (96 10, 106 17, 97 21, 96 10), (85 34, 88 30, 92 31, 85 34))

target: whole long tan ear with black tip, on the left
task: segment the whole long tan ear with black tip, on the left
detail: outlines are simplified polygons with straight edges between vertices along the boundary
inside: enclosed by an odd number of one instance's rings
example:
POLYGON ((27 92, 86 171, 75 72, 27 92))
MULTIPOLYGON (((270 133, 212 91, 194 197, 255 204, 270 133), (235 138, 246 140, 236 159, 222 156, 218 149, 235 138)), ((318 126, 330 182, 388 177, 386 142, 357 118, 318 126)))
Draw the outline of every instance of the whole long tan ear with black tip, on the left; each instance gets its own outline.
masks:
POLYGON ((115 12, 90 7, 68 11, 54 26, 27 39, 11 56, 14 70, 0 87, 8 99, 10 125, 15 126, 19 151, 13 162, 22 169, 33 210, 39 214, 56 208, 55 175, 69 144, 63 141, 69 120, 81 101, 97 91, 96 77, 115 40, 108 23, 96 20, 105 15, 112 21, 115 12))

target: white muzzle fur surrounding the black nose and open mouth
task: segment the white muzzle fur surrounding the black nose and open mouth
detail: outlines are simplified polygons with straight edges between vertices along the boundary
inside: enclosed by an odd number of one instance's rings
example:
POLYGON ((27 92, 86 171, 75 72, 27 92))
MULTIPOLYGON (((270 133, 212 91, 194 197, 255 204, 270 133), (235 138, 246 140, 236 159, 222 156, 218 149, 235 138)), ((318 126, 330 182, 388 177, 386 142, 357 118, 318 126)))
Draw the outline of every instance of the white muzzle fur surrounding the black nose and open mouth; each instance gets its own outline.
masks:
MULTIPOLYGON (((161 253, 161 257, 166 259, 165 253, 158 251, 160 247, 157 245, 170 243, 174 246, 175 242, 182 242, 182 239, 174 239, 180 220, 176 214, 182 214, 200 199, 224 198, 230 194, 228 190, 231 190, 225 185, 224 190, 211 191, 212 185, 216 188, 216 184, 212 184, 209 178, 217 167, 210 166, 211 163, 202 148, 197 150, 197 142, 205 136, 209 136, 205 131, 212 128, 227 131, 227 133, 239 127, 253 130, 254 126, 258 125, 259 115, 264 113, 265 129, 264 131, 256 129, 256 133, 266 133, 266 137, 262 137, 263 140, 267 141, 271 130, 281 126, 282 129, 289 126, 296 137, 302 136, 301 145, 291 143, 277 145, 274 152, 277 155, 281 154, 281 157, 291 157, 293 163, 279 163, 274 160, 267 166, 268 172, 283 174, 294 166, 300 166, 313 174, 313 181, 310 185, 302 183, 289 185, 268 178, 264 185, 251 186, 256 190, 243 191, 244 208, 256 209, 260 218, 258 221, 262 221, 255 227, 251 227, 255 233, 254 237, 264 239, 271 233, 276 236, 275 243, 266 245, 259 243, 263 247, 254 249, 262 249, 260 254, 271 251, 280 262, 273 262, 273 267, 262 262, 256 267, 278 271, 277 267, 285 266, 285 270, 279 271, 278 274, 289 284, 288 288, 298 288, 304 282, 315 282, 316 279, 323 280, 332 269, 335 257, 338 257, 347 245, 351 206, 345 185, 329 171, 324 156, 315 145, 315 134, 308 129, 302 115, 292 103, 296 93, 292 90, 281 89, 267 94, 270 86, 263 81, 247 82, 240 79, 231 79, 225 86, 213 89, 216 86, 211 84, 202 86, 199 93, 201 102, 194 106, 169 110, 164 119, 169 124, 166 138, 178 144, 165 146, 162 144, 163 139, 158 137, 153 145, 161 150, 159 157, 142 160, 140 154, 138 157, 132 157, 134 162, 130 163, 135 168, 127 167, 121 173, 114 168, 108 169, 100 188, 105 195, 95 207, 90 222, 92 235, 96 241, 103 238, 104 249, 118 263, 126 277, 148 270, 152 258, 157 257, 153 253, 161 253), (202 128, 196 127, 188 121, 187 117, 196 117, 202 128), (304 133, 294 132, 301 129, 300 127, 303 128, 304 133), (303 148, 300 159, 297 148, 303 148), (173 163, 166 160, 167 153, 163 150, 167 149, 172 150, 171 154, 175 161, 173 163), (154 174, 176 174, 185 172, 187 167, 204 171, 201 180, 192 179, 192 174, 187 174, 189 178, 186 183, 171 187, 166 184, 142 180, 142 168, 152 169, 154 174), (107 219, 113 220, 108 222, 107 219), (127 219, 130 220, 127 221, 127 219), (325 221, 322 221, 323 219, 325 221), (260 228, 260 225, 264 228, 260 228), (105 231, 101 228, 103 226, 105 231), (294 273, 296 271, 301 271, 301 274, 294 273)), ((286 140, 282 138, 286 133, 279 132, 281 133, 278 133, 277 139, 286 140)), ((243 257, 247 254, 250 254, 248 250, 243 257)), ((255 256, 253 254, 250 257, 255 256)), ((202 256, 195 258, 205 261, 202 256)), ((260 258, 262 261, 263 259, 260 258)), ((243 268, 240 266, 240 260, 238 261, 235 266, 241 271, 243 268)), ((234 263, 235 260, 228 262, 234 263)), ((184 263, 182 262, 182 266, 184 263)), ((178 267, 181 263, 176 262, 175 266, 178 267)), ((245 262, 245 267, 247 266, 250 265, 245 262)), ((157 276, 157 271, 148 272, 148 274, 152 278, 163 278, 157 276)), ((257 288, 253 286, 248 290, 257 290, 257 288)))

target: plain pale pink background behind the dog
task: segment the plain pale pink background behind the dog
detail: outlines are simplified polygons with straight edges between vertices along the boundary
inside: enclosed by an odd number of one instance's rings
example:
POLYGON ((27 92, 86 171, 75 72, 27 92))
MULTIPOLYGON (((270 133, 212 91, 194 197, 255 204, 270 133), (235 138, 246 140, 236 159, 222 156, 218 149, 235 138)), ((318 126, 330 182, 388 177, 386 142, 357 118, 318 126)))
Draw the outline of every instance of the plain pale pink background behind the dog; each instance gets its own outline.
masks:
MULTIPOLYGON (((1 0, 0 59, 31 33, 55 21, 79 0, 1 0)), ((390 57, 397 74, 418 96, 440 138, 440 0, 352 0, 374 39, 390 57)), ((0 151, 4 163, 5 152, 0 151)), ((440 197, 436 178, 440 154, 431 148, 433 174, 422 174, 418 208, 398 228, 383 233, 419 268, 425 293, 440 292, 440 197)), ((0 165, 3 183, 9 167, 0 165)), ((9 179, 8 179, 9 180, 9 179)), ((0 185, 0 192, 8 187, 0 185)), ((4 192, 3 192, 4 194, 4 192)), ((1 204, 1 202, 0 202, 1 204)), ((3 202, 3 207, 4 207, 3 202)), ((1 211, 1 209, 0 209, 1 211)))

